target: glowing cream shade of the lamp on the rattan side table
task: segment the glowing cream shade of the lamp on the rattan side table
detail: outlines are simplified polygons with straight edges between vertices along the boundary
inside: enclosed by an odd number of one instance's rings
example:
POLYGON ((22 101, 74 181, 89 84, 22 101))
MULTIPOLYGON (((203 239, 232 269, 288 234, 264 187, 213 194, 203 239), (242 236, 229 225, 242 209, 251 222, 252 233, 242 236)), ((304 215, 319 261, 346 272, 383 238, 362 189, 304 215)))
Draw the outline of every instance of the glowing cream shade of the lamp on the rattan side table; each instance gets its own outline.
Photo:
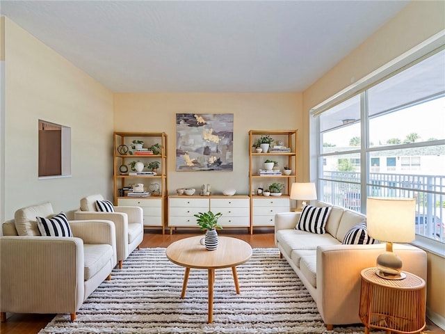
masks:
POLYGON ((366 228, 374 239, 410 242, 416 238, 414 198, 368 198, 366 228))

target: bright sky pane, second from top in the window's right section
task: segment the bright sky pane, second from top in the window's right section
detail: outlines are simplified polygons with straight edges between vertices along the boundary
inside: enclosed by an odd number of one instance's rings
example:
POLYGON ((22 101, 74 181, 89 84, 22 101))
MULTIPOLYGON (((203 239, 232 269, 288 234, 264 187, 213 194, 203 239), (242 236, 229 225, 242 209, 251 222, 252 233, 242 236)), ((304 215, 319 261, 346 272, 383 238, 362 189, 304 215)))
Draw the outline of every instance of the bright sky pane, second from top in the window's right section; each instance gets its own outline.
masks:
POLYGON ((441 139, 445 139, 445 97, 369 119, 371 147, 441 139))

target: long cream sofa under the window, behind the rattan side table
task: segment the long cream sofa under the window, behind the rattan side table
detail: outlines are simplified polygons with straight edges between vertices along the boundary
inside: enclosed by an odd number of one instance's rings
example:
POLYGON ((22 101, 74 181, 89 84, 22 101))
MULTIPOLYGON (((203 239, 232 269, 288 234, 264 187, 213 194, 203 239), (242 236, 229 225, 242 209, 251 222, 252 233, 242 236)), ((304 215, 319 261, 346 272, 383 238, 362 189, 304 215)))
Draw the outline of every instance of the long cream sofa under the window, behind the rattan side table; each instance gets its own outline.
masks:
MULTIPOLYGON (((323 202, 317 206, 327 207, 323 202)), ((300 212, 275 215, 275 245, 297 273, 316 302, 327 329, 334 325, 359 324, 360 271, 375 267, 385 243, 342 244, 346 233, 366 216, 332 206, 325 234, 296 230, 300 212)), ((426 252, 407 244, 394 244, 403 270, 426 281, 426 252)))

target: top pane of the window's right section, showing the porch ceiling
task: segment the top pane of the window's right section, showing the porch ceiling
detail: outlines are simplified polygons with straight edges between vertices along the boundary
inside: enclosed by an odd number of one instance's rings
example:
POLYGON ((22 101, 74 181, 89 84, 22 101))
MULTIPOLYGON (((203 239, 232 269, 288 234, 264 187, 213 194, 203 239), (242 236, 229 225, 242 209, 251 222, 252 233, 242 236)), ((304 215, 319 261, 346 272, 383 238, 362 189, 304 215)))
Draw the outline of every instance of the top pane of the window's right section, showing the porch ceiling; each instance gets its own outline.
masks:
MULTIPOLYGON (((369 88, 369 116, 411 104, 445 89, 445 50, 369 88)), ((443 109, 442 109, 443 111, 443 109)), ((419 114, 417 118, 424 117, 419 114)))

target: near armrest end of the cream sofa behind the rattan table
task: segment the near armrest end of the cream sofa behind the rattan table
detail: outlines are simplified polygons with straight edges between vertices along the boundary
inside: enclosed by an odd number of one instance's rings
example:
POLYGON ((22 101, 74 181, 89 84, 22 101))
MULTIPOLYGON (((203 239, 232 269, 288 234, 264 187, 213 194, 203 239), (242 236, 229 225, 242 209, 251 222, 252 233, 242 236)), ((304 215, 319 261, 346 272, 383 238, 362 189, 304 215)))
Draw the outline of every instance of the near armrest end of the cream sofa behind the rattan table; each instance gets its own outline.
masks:
MULTIPOLYGON (((325 324, 360 323, 358 310, 362 269, 375 267, 385 244, 318 246, 316 258, 316 303, 325 324)), ((403 271, 426 281, 426 252, 411 245, 394 244, 403 261, 403 271)))

